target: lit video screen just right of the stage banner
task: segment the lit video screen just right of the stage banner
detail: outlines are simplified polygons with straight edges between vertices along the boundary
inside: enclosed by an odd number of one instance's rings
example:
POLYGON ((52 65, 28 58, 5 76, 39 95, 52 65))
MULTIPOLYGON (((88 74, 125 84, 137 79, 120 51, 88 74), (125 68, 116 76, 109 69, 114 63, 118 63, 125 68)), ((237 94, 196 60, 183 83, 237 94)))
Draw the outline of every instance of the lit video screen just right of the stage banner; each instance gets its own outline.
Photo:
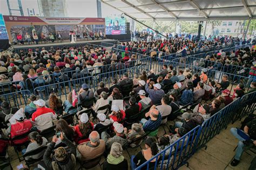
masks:
POLYGON ((125 18, 106 17, 106 35, 126 34, 125 18))

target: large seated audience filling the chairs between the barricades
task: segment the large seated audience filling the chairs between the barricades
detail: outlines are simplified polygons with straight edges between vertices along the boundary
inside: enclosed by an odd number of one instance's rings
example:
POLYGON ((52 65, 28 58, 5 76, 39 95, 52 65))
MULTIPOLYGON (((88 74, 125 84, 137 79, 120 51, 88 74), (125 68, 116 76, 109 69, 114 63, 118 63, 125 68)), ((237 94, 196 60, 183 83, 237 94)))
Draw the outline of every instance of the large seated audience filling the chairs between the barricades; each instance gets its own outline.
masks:
MULTIPOLYGON (((232 41, 232 37, 224 39, 225 43, 232 44, 232 41)), ((152 50, 152 52, 172 53, 182 52, 185 48, 187 52, 196 48, 217 46, 220 43, 221 40, 193 42, 176 38, 153 40, 150 43, 127 42, 117 45, 117 48, 125 51, 152 50)), ((249 57, 242 58, 242 62, 250 60, 252 63, 255 49, 250 51, 240 49, 238 53, 234 53, 233 58, 239 58, 239 55, 244 53, 248 53, 249 57)), ((135 56, 125 55, 125 57, 129 62, 136 59, 135 56)), ((214 60, 218 57, 213 55, 214 60)), ((220 59, 226 60, 228 57, 220 56, 220 59)), ((126 67, 122 55, 116 54, 114 50, 109 52, 91 46, 64 47, 56 50, 51 48, 49 51, 43 48, 42 51, 39 49, 29 50, 28 53, 21 51, 19 54, 12 53, 11 56, 4 54, 0 60, 0 84, 19 81, 17 88, 31 90, 33 83, 50 83, 55 77, 47 76, 49 74, 63 75, 62 73, 66 72, 66 76, 72 77, 69 71, 73 70, 75 73, 79 71, 80 74, 88 76, 91 73, 89 70, 95 66, 100 68, 94 70, 98 72, 110 72, 126 67), (112 65, 108 66, 108 64, 112 65), (28 78, 31 79, 30 83, 25 82, 28 78)), ((252 70, 254 71, 250 75, 255 78, 255 65, 252 66, 252 70)), ((5 137, 11 139, 29 133, 28 137, 12 142, 12 145, 30 142, 25 149, 19 148, 23 154, 47 145, 45 151, 25 159, 43 158, 44 166, 49 169, 75 168, 77 162, 83 164, 81 162, 89 162, 102 155, 106 158, 103 169, 128 169, 128 161, 131 161, 131 168, 134 169, 197 125, 203 124, 221 108, 246 93, 255 92, 254 80, 249 82, 248 92, 243 84, 238 84, 232 92, 229 90, 230 82, 225 73, 221 81, 216 82, 209 79, 206 69, 192 74, 188 68, 177 72, 173 70, 172 65, 163 65, 162 70, 157 73, 154 69, 150 72, 142 71, 134 78, 130 78, 129 73, 123 73, 120 79, 112 78, 112 86, 109 88, 103 82, 99 83, 97 90, 90 89, 86 83, 82 84, 77 98, 83 108, 80 105, 78 108, 72 105, 72 92, 67 94, 68 99, 63 102, 55 93, 51 93, 47 100, 43 100, 31 91, 29 104, 25 106, 24 113, 18 111, 17 107, 12 107, 10 103, 1 101, 1 128, 5 129, 5 137), (180 108, 189 105, 193 105, 193 110, 186 110, 181 114, 183 120, 176 121, 170 126, 168 134, 157 140, 153 138, 161 125, 176 120, 177 111, 180 113, 180 108), (83 113, 85 107, 91 111, 83 113), (68 114, 78 115, 77 124, 69 124, 64 119, 68 114), (12 117, 16 122, 10 124, 9 120, 12 117), (55 125, 56 135, 51 140, 41 135, 41 132, 55 125), (144 149, 132 155, 131 160, 124 158, 124 149, 139 146, 145 137, 144 149), (54 157, 51 157, 53 148, 54 157)), ((253 126, 254 123, 248 123, 245 128, 248 131, 248 128, 252 129, 253 126)), ((235 133, 234 130, 232 133, 235 133)), ((254 132, 250 131, 250 137, 251 135, 254 139, 254 132)), ((3 157, 8 157, 6 150, 4 148, 0 153, 3 157)), ((242 152, 240 150, 237 152, 239 153, 232 161, 232 166, 236 166, 239 162, 242 152)), ((170 153, 172 151, 165 152, 166 155, 170 153)), ((160 160, 158 159, 158 163, 160 160)), ((150 167, 154 166, 156 161, 156 159, 152 160, 150 167)), ((167 161, 164 161, 163 165, 166 166, 167 161)))

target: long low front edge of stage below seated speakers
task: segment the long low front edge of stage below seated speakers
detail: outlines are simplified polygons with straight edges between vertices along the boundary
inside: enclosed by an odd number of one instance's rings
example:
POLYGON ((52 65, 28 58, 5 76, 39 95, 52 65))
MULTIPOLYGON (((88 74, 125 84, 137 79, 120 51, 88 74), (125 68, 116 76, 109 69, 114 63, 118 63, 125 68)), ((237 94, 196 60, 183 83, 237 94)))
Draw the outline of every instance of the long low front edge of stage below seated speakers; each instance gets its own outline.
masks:
POLYGON ((79 46, 85 46, 85 45, 90 45, 90 44, 95 44, 95 45, 100 45, 100 43, 102 42, 111 42, 113 43, 113 41, 117 41, 114 39, 99 39, 99 40, 86 40, 86 41, 82 41, 79 40, 76 43, 70 43, 70 40, 64 40, 64 42, 60 43, 60 42, 56 42, 56 43, 51 43, 51 42, 46 42, 44 44, 44 42, 40 42, 40 44, 24 44, 24 45, 12 45, 12 47, 14 47, 14 50, 16 53, 19 53, 19 50, 24 50, 24 52, 28 52, 29 49, 32 49, 33 51, 35 51, 36 48, 39 48, 39 50, 42 49, 42 47, 45 48, 45 50, 50 50, 50 47, 53 47, 54 49, 56 49, 57 47, 62 48, 64 46, 73 46, 73 47, 79 47, 79 46))

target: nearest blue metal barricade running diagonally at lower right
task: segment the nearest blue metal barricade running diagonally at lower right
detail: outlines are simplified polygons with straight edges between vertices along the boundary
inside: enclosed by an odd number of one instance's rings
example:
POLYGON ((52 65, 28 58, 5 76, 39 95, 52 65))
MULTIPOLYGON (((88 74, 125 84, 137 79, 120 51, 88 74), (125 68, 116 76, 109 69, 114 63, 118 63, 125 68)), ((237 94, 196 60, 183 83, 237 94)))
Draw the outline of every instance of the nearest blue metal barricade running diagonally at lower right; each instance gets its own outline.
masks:
POLYGON ((234 100, 231 104, 205 120, 201 126, 197 126, 179 140, 166 147, 163 151, 154 155, 150 160, 147 160, 143 165, 140 165, 135 169, 178 169, 179 167, 187 164, 187 160, 190 159, 194 153, 199 151, 201 148, 205 147, 206 149, 207 142, 214 138, 215 135, 219 134, 221 130, 227 128, 228 124, 231 122, 234 123, 234 121, 241 119, 245 115, 253 113, 256 105, 255 99, 256 92, 252 92, 246 94, 242 98, 234 100), (193 136, 192 139, 191 136, 193 136), (180 143, 181 147, 179 147, 180 143), (188 149, 191 152, 187 152, 187 146, 191 146, 191 148, 188 149), (172 152, 166 155, 165 153, 168 150, 170 151, 170 149, 172 152), (154 166, 149 166, 150 163, 152 163, 151 161, 154 159, 161 159, 161 161, 159 164, 157 164, 156 161, 154 166), (163 160, 167 160, 167 165, 164 166, 163 160))

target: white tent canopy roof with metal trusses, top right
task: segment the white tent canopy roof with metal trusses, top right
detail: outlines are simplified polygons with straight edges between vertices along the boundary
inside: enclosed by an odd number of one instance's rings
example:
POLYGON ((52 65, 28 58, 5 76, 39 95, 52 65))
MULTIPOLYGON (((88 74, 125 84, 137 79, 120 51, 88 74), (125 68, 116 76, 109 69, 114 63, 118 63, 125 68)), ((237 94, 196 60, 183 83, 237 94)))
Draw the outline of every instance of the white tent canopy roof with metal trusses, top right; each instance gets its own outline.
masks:
POLYGON ((102 0, 140 21, 256 19, 256 0, 102 0))

